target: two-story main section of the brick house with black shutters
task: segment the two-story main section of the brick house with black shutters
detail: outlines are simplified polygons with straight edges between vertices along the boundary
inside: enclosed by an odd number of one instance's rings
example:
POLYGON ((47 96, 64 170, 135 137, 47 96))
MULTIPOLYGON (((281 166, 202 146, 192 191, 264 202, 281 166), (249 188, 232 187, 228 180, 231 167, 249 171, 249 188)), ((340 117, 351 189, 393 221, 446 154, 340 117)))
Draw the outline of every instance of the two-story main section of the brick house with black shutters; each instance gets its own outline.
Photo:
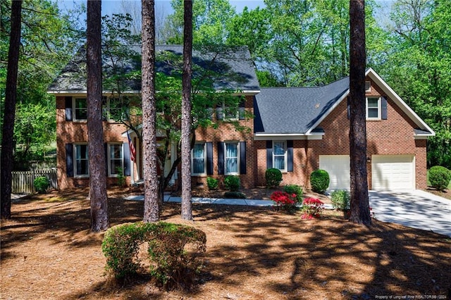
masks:
MULTIPOLYGON (((106 156, 106 174, 109 185, 118 182, 118 177, 125 175, 128 185, 140 182, 142 178, 142 145, 140 134, 140 117, 137 116, 133 130, 123 123, 111 118, 113 110, 121 110, 128 118, 133 106, 140 106, 141 80, 137 75, 140 70, 140 46, 128 46, 128 58, 103 57, 104 73, 104 144, 106 156), (112 66, 116 65, 115 70, 112 66), (121 82, 111 85, 111 82, 121 82), (121 101, 118 101, 121 99, 121 101), (128 99, 128 101, 123 101, 128 99), (127 106, 127 107, 123 107, 127 106), (125 108, 125 109, 124 109, 125 108), (130 109, 129 109, 130 108, 130 109), (129 144, 130 137, 130 144, 129 144), (132 155, 130 155, 130 149, 132 155)), ((181 60, 183 46, 156 46, 161 60, 156 62, 156 72, 171 75, 177 68, 171 59, 181 60)), ((260 90, 254 65, 247 47, 216 47, 215 49, 193 50, 193 78, 202 77, 210 89, 209 95, 215 98, 234 96, 239 107, 236 112, 228 111, 226 103, 208 106, 213 127, 199 127, 196 130, 196 142, 192 151, 193 185, 206 186, 206 177, 223 177, 240 175, 242 185, 254 185, 255 168, 252 152, 252 118, 254 95, 260 90), (236 130, 237 126, 247 130, 236 130)), ((49 87, 49 93, 56 96, 56 135, 57 135, 57 169, 58 187, 61 189, 87 187, 89 185, 89 161, 87 157, 87 88, 86 88, 86 52, 83 47, 61 71, 49 87)), ((158 77, 158 76, 157 76, 158 77)), ((173 87, 162 87, 157 94, 173 87)), ((180 86, 181 91, 181 86, 180 86)), ((200 91, 202 92, 202 91, 200 91)), ((157 97, 158 98, 158 97, 157 97)), ((208 99, 206 100, 208 102, 208 99)), ((213 101, 212 101, 213 102, 213 101)), ((220 101, 221 102, 221 101, 220 101)), ((166 117, 164 108, 159 114, 166 117)), ((175 120, 177 122, 178 120, 175 120)), ((163 132, 157 142, 163 144, 163 132)), ((175 161, 176 144, 172 144, 171 155, 165 163, 165 175, 169 166, 175 161)), ((178 179, 176 172, 172 180, 178 179)))

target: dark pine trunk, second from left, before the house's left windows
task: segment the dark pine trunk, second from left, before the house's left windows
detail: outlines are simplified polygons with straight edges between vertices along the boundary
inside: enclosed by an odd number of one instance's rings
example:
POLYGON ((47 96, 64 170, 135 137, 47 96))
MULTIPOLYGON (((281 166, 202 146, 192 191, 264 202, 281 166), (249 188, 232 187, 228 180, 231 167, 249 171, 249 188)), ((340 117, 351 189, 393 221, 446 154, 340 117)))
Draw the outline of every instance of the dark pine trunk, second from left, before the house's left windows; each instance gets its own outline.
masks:
POLYGON ((87 132, 91 230, 107 230, 108 196, 101 109, 101 1, 87 1, 87 132))

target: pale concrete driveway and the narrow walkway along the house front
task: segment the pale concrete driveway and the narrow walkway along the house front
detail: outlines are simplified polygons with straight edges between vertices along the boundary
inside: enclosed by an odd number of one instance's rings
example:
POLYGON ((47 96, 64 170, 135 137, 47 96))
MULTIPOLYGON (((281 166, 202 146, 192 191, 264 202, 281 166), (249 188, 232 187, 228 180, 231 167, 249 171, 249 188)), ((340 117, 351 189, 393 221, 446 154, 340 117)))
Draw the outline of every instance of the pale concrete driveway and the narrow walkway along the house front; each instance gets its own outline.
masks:
MULTIPOLYGON (((128 196, 125 200, 143 201, 144 196, 128 196)), ((181 202, 180 197, 165 195, 165 202, 181 202)), ((193 197, 192 203, 273 206, 270 200, 211 199, 193 197)), ((412 192, 369 192, 369 204, 377 220, 451 237, 451 200, 421 190, 412 192)), ((333 209, 331 204, 324 208, 333 209)))

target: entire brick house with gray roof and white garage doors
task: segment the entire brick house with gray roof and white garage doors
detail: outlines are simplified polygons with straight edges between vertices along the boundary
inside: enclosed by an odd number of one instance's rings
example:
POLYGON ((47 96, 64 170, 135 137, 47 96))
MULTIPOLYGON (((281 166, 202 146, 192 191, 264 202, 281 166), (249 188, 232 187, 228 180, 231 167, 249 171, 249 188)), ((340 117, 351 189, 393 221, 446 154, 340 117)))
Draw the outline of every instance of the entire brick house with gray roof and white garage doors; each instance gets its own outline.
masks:
MULTIPOLYGON (((156 50, 181 55, 182 49, 159 46, 156 50)), ((228 80, 215 82, 214 88, 235 90, 245 99, 240 110, 254 119, 240 118, 239 112, 233 117, 248 131, 237 131, 228 122, 216 129, 197 129, 191 158, 193 187, 206 187, 206 177, 222 182, 227 175, 239 175, 245 188, 265 185, 267 168, 282 170, 283 185, 308 187, 311 171, 321 168, 330 174, 330 189, 349 189, 349 77, 323 87, 260 88, 245 47, 222 54, 193 51, 193 62, 199 65, 213 57, 221 73, 233 73, 228 80)), ((75 56, 49 88, 56 96, 61 189, 89 185, 86 83, 80 69, 84 59, 83 54, 75 56)), ((139 94, 139 88, 128 93, 139 94)), ((111 92, 104 96, 109 104, 111 92)), ((371 68, 366 71, 366 96, 369 188, 426 187, 426 141, 435 133, 371 68)), ((224 118, 221 109, 216 108, 213 118, 224 118)), ((109 185, 117 180, 115 165, 123 169, 128 184, 139 181, 141 146, 136 135, 105 120, 104 139, 109 185), (128 134, 136 149, 135 161, 130 159, 128 134)), ((178 180, 177 173, 173 180, 178 180)))

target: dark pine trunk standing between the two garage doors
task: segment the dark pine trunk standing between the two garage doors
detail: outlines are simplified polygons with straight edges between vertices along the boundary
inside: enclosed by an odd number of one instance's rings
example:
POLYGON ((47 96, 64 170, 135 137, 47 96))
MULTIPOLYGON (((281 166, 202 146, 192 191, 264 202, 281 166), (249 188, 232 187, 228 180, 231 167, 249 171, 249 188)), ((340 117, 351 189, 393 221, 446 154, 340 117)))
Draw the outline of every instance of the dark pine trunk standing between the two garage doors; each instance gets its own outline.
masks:
POLYGON ((371 225, 366 174, 366 54, 364 0, 350 0, 350 30, 350 221, 371 225))

